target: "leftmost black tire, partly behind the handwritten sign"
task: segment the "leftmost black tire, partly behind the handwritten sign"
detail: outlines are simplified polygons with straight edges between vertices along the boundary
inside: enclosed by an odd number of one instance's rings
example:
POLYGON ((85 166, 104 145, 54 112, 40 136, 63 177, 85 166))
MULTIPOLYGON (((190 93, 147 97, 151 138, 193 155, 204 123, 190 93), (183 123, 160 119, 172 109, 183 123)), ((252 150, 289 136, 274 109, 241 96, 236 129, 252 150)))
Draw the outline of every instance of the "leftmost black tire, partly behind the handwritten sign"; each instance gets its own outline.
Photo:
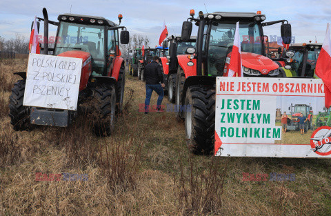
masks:
POLYGON ((30 108, 23 106, 24 90, 26 80, 21 79, 14 84, 12 94, 9 97, 9 117, 10 124, 14 130, 31 130, 30 108))

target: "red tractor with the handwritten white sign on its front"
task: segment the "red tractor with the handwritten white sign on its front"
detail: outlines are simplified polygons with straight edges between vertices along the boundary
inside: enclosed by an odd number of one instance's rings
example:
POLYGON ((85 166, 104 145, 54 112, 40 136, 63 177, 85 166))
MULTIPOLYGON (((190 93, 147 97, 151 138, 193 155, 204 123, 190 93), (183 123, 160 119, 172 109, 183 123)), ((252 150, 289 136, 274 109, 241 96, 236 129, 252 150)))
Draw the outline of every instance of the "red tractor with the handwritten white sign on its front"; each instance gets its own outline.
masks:
MULTIPOLYGON (((125 73, 118 31, 122 29, 121 43, 127 44, 129 32, 126 27, 103 17, 79 14, 61 14, 58 21, 50 21, 46 8, 43 8, 43 18, 37 19, 44 22, 45 41, 41 48, 44 55, 51 53, 83 61, 77 111, 23 106, 27 76, 26 72, 16 72, 14 74, 22 79, 14 84, 10 95, 9 116, 14 130, 28 130, 32 124, 69 126, 81 110, 81 105, 87 103, 94 113, 96 135, 110 135, 115 116, 121 112, 123 103, 125 73), (48 48, 49 23, 58 28, 54 48, 48 48)), ((119 14, 119 23, 121 19, 119 14)))

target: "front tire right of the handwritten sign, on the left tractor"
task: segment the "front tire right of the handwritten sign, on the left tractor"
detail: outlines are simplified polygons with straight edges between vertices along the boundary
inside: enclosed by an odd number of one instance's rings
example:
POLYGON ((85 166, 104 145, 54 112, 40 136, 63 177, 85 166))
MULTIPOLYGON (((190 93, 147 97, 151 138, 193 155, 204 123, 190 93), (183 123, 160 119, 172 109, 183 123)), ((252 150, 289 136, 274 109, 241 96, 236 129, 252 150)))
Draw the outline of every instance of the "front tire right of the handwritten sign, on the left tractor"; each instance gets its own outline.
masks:
POLYGON ((97 86, 94 90, 95 135, 106 137, 112 134, 116 121, 116 90, 114 86, 97 86))

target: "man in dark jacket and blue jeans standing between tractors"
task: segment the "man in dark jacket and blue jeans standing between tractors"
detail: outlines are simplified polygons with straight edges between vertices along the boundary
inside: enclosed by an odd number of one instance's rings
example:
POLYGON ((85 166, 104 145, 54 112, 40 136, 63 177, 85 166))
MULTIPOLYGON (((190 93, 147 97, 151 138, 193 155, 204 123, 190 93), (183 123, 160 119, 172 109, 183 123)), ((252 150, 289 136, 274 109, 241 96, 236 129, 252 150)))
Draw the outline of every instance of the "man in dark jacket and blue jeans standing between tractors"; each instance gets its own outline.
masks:
POLYGON ((160 58, 154 56, 152 61, 145 66, 143 77, 146 80, 146 99, 145 99, 145 115, 150 111, 150 98, 152 97, 153 90, 157 92, 157 112, 164 112, 161 108, 164 92, 163 87, 163 74, 161 66, 159 65, 160 58))

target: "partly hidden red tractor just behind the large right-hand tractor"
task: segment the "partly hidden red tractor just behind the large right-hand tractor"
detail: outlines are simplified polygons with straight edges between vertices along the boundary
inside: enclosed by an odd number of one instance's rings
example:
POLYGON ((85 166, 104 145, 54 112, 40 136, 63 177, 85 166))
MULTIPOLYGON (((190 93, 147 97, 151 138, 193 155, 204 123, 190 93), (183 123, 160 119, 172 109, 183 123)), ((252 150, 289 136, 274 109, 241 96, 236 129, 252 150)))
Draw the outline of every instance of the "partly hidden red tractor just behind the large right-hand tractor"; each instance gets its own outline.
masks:
POLYGON ((163 67, 163 78, 165 90, 168 91, 168 100, 174 104, 174 91, 176 84, 176 75, 178 70, 177 55, 185 55, 188 48, 194 48, 197 37, 190 37, 190 40, 183 41, 181 37, 169 37, 168 41, 164 41, 163 47, 168 47, 169 55, 161 57, 163 67))

